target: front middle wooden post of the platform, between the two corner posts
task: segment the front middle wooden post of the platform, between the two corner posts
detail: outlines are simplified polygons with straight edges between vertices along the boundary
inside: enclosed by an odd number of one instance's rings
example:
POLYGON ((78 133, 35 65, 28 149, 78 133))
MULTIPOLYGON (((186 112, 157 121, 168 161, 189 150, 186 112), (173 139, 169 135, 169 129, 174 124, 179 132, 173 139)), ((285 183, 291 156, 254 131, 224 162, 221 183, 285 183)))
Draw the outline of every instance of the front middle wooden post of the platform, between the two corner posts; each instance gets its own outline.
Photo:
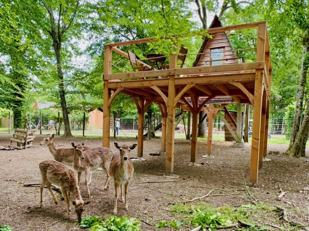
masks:
MULTIPOLYGON (((177 55, 170 54, 170 69, 177 68, 177 55)), ((168 77, 168 97, 167 97, 167 134, 166 134, 166 163, 167 173, 174 171, 174 138, 175 138, 175 77, 168 77)))

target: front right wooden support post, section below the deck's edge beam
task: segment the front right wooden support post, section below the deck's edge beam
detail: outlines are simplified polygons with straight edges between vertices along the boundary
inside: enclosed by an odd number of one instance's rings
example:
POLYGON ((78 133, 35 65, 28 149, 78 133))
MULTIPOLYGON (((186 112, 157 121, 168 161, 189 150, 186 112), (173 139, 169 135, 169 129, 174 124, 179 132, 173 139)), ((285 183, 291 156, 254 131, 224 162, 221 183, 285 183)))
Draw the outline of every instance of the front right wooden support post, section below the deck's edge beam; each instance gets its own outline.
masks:
POLYGON ((253 124, 252 124, 252 143, 251 143, 251 161, 250 161, 250 182, 257 183, 259 166, 259 146, 260 146, 260 124, 261 108, 263 94, 263 72, 256 71, 256 80, 254 86, 254 106, 253 106, 253 124))

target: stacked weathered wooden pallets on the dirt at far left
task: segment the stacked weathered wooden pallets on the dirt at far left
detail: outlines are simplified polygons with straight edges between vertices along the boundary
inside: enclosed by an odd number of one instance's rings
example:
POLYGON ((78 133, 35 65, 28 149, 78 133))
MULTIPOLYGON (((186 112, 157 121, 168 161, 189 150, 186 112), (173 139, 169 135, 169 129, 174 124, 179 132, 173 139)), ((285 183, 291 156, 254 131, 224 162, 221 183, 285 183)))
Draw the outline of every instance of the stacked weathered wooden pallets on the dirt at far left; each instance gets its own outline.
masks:
POLYGON ((13 137, 10 139, 11 143, 9 144, 9 147, 14 147, 16 149, 24 149, 31 147, 32 141, 35 138, 35 132, 36 129, 27 130, 16 128, 13 137), (12 142, 16 142, 17 144, 13 145, 12 142))

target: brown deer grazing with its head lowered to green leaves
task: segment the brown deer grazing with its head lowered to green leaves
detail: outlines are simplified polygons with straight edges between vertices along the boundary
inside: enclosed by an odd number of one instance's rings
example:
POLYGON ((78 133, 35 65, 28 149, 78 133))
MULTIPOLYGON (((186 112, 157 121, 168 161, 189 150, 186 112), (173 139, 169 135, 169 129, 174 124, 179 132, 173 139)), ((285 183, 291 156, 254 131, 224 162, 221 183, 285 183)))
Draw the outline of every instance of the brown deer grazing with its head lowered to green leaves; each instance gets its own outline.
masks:
POLYGON ((75 171, 69 166, 66 166, 60 162, 54 160, 45 160, 40 163, 40 172, 42 177, 42 183, 40 186, 40 206, 43 206, 42 192, 45 185, 52 194, 55 204, 58 204, 57 198, 50 187, 51 184, 55 184, 61 188, 61 193, 66 203, 66 217, 69 220, 70 194, 73 194, 74 201, 72 204, 75 206, 77 219, 80 222, 82 220, 84 205, 89 204, 90 202, 84 203, 82 196, 80 195, 75 171))

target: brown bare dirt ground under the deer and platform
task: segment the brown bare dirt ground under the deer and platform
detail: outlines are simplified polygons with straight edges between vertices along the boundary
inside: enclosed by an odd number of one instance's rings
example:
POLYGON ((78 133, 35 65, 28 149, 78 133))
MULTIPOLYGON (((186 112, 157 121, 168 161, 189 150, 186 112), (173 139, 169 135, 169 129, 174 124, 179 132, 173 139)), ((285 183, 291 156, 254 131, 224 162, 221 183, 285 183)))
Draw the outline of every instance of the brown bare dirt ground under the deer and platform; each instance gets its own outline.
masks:
MULTIPOLYGON (((9 144, 11 136, 1 134, 0 146, 9 144)), ((63 201, 58 205, 47 189, 43 191, 43 208, 39 207, 39 187, 23 187, 22 183, 40 183, 39 163, 53 159, 47 146, 40 146, 44 136, 36 136, 34 146, 26 150, 0 151, 0 224, 11 225, 14 230, 73 230, 76 215, 71 213, 71 221, 65 219, 66 206, 63 201)), ((70 140, 83 141, 82 138, 70 140)), ((111 139, 111 143, 114 141, 111 139)), ((136 140, 117 140, 119 143, 132 144, 136 140)), ((88 139, 87 146, 101 146, 101 139, 88 139)), ((128 201, 129 211, 125 211, 124 204, 118 203, 118 215, 136 217, 149 220, 156 224, 158 220, 171 220, 169 210, 174 202, 183 201, 183 198, 193 199, 207 194, 210 188, 217 188, 213 194, 226 194, 226 191, 218 189, 244 188, 243 174, 249 185, 249 167, 251 144, 245 144, 245 148, 233 148, 231 142, 213 142, 211 157, 202 157, 206 153, 206 141, 199 141, 197 147, 198 166, 190 165, 190 141, 175 141, 174 173, 179 178, 173 179, 179 182, 139 183, 143 181, 167 181, 171 180, 164 175, 165 155, 150 156, 160 149, 160 140, 152 139, 144 141, 144 161, 135 161, 134 176, 129 186, 128 201)), ((69 139, 55 137, 55 145, 63 145, 61 148, 70 148, 69 139)), ((59 148, 59 147, 58 147, 59 148)), ((280 154, 270 154, 264 161, 263 168, 259 170, 259 181, 251 189, 251 194, 258 203, 279 205, 288 211, 288 218, 303 224, 309 223, 309 162, 307 157, 292 158, 282 153, 287 145, 268 145, 268 150, 278 150, 280 154), (281 201, 277 200, 280 194, 278 185, 286 191, 281 201), (307 187, 307 188, 306 188, 307 187)), ((111 145, 113 153, 118 150, 111 145)), ((131 151, 131 157, 136 157, 137 149, 131 151)), ((307 154, 308 156, 308 154, 307 154)), ((90 191, 93 195, 91 204, 87 205, 84 212, 90 215, 107 217, 112 214, 114 187, 113 181, 108 191, 102 190, 106 179, 104 171, 93 171, 90 191)), ((82 174, 81 194, 84 200, 87 198, 87 188, 82 174)), ((251 184, 250 184, 251 186, 251 184)), ((228 204, 239 205, 252 203, 252 197, 246 190, 237 191, 238 194, 225 196, 209 196, 202 199, 213 206, 228 204)), ((195 202, 193 202, 195 203, 195 202)), ((254 217, 252 218, 255 219, 254 217)), ((259 223, 280 225, 279 214, 265 216, 259 223)), ((272 229, 271 227, 269 227, 272 229)), ((142 230, 170 230, 170 228, 157 229, 155 226, 142 222, 142 230)), ((190 230, 185 227, 182 230, 190 230)))

